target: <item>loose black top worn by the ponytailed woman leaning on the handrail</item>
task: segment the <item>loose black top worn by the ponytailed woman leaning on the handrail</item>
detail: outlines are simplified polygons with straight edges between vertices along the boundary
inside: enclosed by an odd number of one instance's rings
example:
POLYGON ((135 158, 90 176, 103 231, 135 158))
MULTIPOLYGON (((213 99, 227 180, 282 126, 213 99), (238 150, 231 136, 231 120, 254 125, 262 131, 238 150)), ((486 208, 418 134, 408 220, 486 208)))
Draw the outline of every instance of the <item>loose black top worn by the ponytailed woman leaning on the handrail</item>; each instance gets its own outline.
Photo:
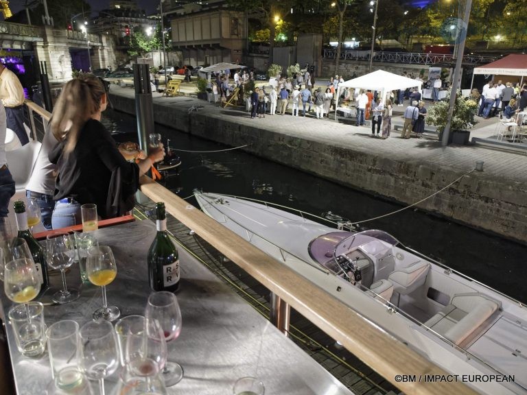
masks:
POLYGON ((62 152, 66 141, 62 141, 49 153, 49 161, 58 165, 54 200, 73 197, 80 204, 97 204, 97 214, 106 213, 108 189, 112 174, 119 169, 121 195, 133 195, 139 187, 139 167, 128 162, 117 149, 112 136, 104 125, 90 119, 80 130, 73 152, 62 152))

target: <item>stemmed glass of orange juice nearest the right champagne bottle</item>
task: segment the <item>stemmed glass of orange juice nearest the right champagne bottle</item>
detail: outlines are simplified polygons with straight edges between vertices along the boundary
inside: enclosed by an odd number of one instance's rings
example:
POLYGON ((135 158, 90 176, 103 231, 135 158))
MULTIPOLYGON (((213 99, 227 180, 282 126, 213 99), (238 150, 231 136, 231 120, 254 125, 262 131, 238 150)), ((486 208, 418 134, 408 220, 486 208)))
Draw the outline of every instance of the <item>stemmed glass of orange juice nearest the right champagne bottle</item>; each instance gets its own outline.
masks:
POLYGON ((106 285, 110 284, 117 276, 117 265, 115 265, 115 258, 110 247, 98 246, 88 251, 86 273, 90 283, 102 287, 102 307, 95 310, 93 319, 117 320, 119 315, 121 315, 121 311, 118 307, 108 306, 106 302, 106 285))

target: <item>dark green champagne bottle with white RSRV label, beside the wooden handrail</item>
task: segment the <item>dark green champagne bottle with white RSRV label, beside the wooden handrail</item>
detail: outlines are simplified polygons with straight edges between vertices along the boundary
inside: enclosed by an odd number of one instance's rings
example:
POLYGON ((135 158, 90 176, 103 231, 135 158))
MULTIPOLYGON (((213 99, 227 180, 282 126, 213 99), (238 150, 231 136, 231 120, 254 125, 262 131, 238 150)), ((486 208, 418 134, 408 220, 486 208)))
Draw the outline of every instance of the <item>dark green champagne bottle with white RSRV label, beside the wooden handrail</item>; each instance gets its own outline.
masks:
POLYGON ((154 291, 179 289, 179 254, 167 233, 165 204, 156 203, 157 235, 148 250, 148 280, 154 291))

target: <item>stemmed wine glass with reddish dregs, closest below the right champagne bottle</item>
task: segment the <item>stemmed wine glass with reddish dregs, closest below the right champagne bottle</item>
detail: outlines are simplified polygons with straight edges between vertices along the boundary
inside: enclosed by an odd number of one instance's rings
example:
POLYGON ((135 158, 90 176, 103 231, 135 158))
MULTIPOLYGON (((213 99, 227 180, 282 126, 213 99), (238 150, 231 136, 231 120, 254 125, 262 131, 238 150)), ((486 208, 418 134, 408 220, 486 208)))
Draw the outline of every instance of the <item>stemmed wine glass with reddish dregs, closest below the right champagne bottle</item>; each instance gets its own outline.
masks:
MULTIPOLYGON (((148 296, 145 318, 147 322, 159 322, 167 343, 177 339, 181 333, 181 311, 178 300, 172 292, 152 292, 148 296)), ((165 385, 169 387, 183 379, 183 368, 179 363, 166 361, 161 374, 165 380, 165 385)))

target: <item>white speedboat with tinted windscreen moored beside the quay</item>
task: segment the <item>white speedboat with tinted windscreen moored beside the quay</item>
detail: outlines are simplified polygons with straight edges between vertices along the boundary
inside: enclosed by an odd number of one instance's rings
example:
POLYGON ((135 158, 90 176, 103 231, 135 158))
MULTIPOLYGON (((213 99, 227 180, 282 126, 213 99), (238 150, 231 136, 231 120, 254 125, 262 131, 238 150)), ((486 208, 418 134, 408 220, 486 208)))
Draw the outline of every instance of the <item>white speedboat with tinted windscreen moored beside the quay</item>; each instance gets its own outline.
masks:
POLYGON ((517 300, 382 230, 339 230, 229 195, 195 197, 204 213, 457 375, 446 379, 482 394, 527 394, 527 308, 517 300))

